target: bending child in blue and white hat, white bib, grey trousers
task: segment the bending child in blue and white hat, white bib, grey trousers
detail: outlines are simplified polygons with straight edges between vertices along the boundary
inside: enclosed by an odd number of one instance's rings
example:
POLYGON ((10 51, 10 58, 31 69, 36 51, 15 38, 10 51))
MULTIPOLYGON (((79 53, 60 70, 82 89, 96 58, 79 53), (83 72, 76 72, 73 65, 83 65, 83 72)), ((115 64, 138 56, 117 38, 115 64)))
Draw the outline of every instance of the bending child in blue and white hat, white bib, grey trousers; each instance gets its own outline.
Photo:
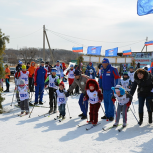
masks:
POLYGON ((118 100, 116 121, 113 126, 118 126, 119 119, 120 119, 120 113, 122 111, 122 113, 123 113, 123 127, 126 127, 127 109, 131 105, 132 96, 127 91, 125 91, 125 89, 120 85, 116 85, 116 87, 112 87, 111 89, 114 92, 114 95, 112 96, 113 103, 115 103, 116 98, 118 100))

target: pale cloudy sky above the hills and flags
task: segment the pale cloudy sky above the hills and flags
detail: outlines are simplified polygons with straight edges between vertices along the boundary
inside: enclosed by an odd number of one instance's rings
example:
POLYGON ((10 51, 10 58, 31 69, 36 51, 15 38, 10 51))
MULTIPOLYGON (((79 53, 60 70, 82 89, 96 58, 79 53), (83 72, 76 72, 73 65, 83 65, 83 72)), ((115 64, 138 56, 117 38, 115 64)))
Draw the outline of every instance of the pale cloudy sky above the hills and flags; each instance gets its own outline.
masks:
POLYGON ((137 0, 0 0, 0 5, 0 29, 10 36, 7 48, 42 48, 43 25, 53 49, 140 52, 146 37, 153 40, 153 14, 138 16, 137 0))

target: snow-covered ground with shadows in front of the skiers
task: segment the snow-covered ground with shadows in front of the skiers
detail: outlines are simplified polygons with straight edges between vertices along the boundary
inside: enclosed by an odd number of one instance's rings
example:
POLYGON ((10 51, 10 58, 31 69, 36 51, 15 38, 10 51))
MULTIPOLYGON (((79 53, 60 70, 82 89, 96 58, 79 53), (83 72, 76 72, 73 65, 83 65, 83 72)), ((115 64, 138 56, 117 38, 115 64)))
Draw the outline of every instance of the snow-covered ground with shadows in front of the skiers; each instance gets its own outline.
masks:
MULTIPOLYGON (((68 87, 67 83, 66 86, 68 87)), ((15 107, 14 103, 12 107, 10 106, 13 89, 14 84, 11 83, 10 92, 3 93, 5 97, 3 107, 5 110, 11 109, 11 112, 0 114, 0 153, 153 153, 153 125, 148 125, 146 107, 144 107, 144 122, 141 127, 129 111, 126 129, 120 133, 117 129, 104 132, 102 127, 109 127, 114 121, 101 120, 104 114, 100 108, 101 124, 86 131, 86 127, 91 125, 77 127, 78 124, 86 122, 78 117, 81 113, 78 105, 79 96, 68 98, 72 119, 69 119, 67 111, 66 119, 59 123, 54 120, 56 114, 50 117, 38 117, 48 112, 48 108, 34 108, 31 118, 18 117, 20 109, 15 107)), ((44 101, 46 101, 44 105, 49 106, 49 96, 46 91, 44 101)), ((134 95, 133 102, 135 115, 138 118, 137 94, 134 95)), ((133 106, 131 108, 133 110, 133 106)))

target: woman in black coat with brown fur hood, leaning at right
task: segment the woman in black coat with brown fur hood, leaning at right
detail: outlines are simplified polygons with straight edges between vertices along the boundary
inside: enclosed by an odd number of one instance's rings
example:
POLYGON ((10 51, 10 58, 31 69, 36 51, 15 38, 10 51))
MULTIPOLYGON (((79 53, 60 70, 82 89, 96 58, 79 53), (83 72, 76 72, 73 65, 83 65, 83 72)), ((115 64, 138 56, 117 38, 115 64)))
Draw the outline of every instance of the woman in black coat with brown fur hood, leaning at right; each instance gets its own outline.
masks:
POLYGON ((139 103, 139 125, 143 122, 143 107, 146 100, 149 123, 152 123, 152 112, 149 106, 149 101, 152 101, 151 90, 153 88, 153 76, 146 70, 139 68, 134 73, 134 83, 130 94, 133 96, 138 86, 138 103, 139 103))

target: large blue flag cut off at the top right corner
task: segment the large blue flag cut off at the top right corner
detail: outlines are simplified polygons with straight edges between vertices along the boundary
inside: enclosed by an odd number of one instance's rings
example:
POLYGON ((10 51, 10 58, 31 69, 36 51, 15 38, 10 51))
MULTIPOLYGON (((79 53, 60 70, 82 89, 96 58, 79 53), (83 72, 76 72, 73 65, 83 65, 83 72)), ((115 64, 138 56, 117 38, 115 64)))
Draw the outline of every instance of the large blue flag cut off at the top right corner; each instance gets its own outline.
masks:
POLYGON ((153 13, 153 0, 138 0, 137 14, 139 16, 153 13))

